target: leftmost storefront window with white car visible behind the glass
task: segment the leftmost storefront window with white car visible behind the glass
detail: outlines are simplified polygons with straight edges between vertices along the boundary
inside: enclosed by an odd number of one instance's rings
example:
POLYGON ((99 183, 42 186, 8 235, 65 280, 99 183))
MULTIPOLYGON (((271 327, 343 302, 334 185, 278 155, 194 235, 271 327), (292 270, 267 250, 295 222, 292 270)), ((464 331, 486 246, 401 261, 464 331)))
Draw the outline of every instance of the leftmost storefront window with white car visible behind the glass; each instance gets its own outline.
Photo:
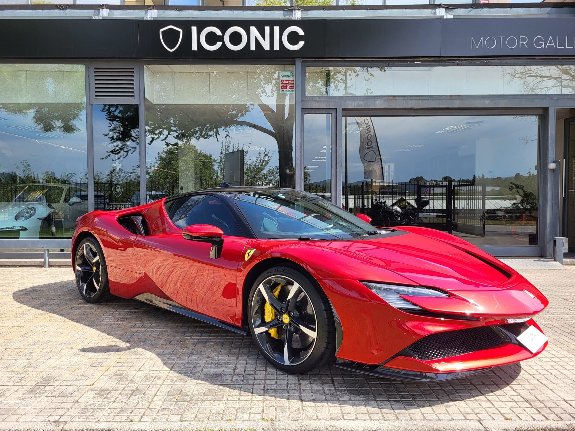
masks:
POLYGON ((0 64, 0 238, 69 238, 88 210, 81 64, 0 64))

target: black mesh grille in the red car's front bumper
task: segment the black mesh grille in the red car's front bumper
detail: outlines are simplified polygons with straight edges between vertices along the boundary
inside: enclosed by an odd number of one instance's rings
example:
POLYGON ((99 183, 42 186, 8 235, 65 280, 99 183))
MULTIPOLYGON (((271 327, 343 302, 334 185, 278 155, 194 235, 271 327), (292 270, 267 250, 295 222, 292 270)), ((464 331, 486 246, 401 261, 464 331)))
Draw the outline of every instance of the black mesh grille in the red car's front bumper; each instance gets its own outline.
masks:
POLYGON ((490 349, 505 342, 489 326, 480 326, 431 334, 417 340, 407 349, 416 359, 428 361, 490 349))

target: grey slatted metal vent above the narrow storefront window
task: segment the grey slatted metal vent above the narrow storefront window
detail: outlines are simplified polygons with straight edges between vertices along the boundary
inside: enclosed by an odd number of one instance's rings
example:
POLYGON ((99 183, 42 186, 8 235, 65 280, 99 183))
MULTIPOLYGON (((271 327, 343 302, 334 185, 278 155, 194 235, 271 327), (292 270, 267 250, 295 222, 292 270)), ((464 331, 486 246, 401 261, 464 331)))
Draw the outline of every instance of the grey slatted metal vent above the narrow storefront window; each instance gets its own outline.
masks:
POLYGON ((94 67, 94 98, 134 99, 134 74, 133 67, 94 67))

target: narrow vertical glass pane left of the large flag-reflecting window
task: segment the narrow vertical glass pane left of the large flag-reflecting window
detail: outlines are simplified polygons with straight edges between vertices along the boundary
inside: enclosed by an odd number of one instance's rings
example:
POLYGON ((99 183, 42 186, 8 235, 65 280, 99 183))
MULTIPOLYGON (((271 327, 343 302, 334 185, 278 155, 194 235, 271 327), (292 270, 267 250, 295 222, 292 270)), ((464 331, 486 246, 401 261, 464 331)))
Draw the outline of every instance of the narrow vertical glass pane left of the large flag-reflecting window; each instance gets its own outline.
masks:
POLYGON ((304 190, 335 202, 335 110, 302 110, 304 117, 304 190))

